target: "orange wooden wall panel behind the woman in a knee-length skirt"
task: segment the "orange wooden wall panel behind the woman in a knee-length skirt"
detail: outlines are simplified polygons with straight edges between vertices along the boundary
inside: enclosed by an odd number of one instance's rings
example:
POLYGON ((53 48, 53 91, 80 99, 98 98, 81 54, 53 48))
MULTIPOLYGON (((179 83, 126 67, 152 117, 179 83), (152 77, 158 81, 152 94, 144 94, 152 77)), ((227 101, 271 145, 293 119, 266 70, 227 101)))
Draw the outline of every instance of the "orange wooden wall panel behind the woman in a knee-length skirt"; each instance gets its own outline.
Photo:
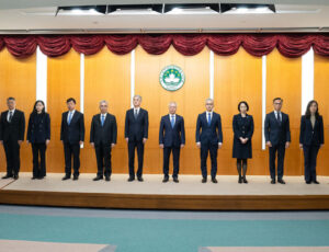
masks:
POLYGON ((242 48, 232 56, 215 56, 215 112, 222 116, 223 148, 218 150, 218 174, 237 174, 232 159, 232 116, 238 114, 238 103, 247 101, 253 116, 253 159, 248 161, 248 174, 266 174, 262 141, 262 59, 249 55, 242 48))

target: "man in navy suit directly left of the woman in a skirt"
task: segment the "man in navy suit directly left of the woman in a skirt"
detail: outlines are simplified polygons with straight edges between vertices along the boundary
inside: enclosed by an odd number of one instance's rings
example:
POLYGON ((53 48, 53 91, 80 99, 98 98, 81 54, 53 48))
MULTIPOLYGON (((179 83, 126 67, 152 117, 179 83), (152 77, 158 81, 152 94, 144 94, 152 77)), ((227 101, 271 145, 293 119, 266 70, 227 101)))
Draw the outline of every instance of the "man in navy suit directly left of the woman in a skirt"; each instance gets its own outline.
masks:
POLYGON ((212 182, 217 183, 217 150, 223 145, 220 115, 213 111, 214 100, 207 99, 205 102, 206 112, 200 114, 196 121, 196 146, 201 149, 201 172, 202 183, 207 182, 207 157, 211 153, 212 160, 212 182))

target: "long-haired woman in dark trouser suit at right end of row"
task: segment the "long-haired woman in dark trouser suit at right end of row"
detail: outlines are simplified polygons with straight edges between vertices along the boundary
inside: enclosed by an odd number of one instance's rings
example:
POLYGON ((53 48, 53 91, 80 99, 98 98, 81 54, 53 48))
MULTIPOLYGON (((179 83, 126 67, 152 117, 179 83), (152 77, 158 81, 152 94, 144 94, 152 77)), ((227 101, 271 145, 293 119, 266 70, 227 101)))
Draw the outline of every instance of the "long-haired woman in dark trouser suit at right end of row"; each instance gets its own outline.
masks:
POLYGON ((317 154, 325 144, 324 121, 318 112, 318 103, 310 101, 300 119, 299 147, 304 151, 305 182, 319 184, 317 181, 317 154))

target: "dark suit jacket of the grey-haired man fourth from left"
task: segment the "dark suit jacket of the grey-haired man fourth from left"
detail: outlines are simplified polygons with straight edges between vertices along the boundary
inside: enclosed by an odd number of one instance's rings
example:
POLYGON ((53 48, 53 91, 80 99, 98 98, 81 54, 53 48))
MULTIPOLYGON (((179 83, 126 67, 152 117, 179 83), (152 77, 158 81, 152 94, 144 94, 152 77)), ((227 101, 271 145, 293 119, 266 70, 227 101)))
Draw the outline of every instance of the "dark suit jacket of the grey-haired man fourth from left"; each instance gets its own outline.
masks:
POLYGON ((101 123, 101 114, 97 114, 92 117, 90 127, 90 142, 94 142, 94 146, 116 144, 117 127, 114 115, 106 114, 104 125, 101 123))

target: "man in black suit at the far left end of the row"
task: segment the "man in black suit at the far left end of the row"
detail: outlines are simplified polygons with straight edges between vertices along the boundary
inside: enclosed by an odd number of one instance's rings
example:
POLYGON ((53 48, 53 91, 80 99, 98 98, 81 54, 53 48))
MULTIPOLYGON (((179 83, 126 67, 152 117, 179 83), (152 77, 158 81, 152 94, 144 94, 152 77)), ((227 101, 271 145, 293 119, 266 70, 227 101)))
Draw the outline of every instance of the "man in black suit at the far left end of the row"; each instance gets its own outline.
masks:
POLYGON ((1 113, 0 142, 3 145, 7 159, 7 174, 2 179, 19 179, 20 148, 24 140, 25 116, 15 108, 14 98, 7 99, 8 111, 1 113))

